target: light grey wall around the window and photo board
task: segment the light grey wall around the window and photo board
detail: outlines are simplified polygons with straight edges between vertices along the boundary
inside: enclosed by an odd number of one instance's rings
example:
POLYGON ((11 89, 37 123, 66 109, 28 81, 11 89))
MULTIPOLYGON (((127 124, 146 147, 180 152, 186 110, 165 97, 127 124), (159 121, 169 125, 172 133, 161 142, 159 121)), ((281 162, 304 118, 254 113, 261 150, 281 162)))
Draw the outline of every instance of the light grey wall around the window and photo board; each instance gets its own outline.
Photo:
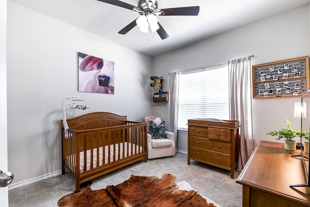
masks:
MULTIPOLYGON (((227 62, 239 57, 255 55, 252 65, 269 63, 309 55, 309 5, 273 16, 248 26, 208 38, 188 47, 177 49, 153 59, 153 73, 168 80, 168 73, 204 65, 227 62)), ((168 90, 165 84, 164 91, 168 90)), ((286 123, 300 126, 294 118, 294 102, 300 97, 255 98, 253 104, 253 130, 255 144, 259 140, 274 142, 275 137, 265 135, 286 123)), ((168 105, 153 107, 154 114, 167 120, 168 105)), ((187 151, 187 134, 179 133, 179 149, 187 151)))

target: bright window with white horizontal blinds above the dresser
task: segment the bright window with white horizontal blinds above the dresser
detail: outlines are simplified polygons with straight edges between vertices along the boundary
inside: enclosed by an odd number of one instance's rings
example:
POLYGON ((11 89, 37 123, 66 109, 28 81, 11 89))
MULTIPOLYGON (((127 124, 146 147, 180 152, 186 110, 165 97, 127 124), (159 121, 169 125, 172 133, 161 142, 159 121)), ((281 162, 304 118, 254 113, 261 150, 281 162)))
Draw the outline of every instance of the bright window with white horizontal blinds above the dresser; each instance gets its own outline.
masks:
POLYGON ((180 72, 178 129, 192 118, 229 119, 227 63, 180 72))

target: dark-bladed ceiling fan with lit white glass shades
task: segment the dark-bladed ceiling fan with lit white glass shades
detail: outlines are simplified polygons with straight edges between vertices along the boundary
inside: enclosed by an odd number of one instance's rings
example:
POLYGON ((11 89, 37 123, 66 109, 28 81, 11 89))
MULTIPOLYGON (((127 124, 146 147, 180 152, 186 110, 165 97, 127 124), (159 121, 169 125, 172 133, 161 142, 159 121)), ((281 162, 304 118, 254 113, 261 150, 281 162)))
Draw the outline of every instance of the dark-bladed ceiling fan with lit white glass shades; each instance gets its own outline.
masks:
POLYGON ((169 37, 168 33, 157 21, 156 15, 159 16, 197 16, 199 13, 199 6, 178 7, 168 9, 158 9, 156 0, 139 0, 138 6, 125 3, 120 0, 99 0, 115 6, 120 6, 125 9, 130 9, 140 14, 140 17, 133 20, 126 27, 124 27, 120 34, 126 34, 136 25, 140 27, 140 31, 147 33, 149 28, 152 32, 157 32, 161 39, 169 37))

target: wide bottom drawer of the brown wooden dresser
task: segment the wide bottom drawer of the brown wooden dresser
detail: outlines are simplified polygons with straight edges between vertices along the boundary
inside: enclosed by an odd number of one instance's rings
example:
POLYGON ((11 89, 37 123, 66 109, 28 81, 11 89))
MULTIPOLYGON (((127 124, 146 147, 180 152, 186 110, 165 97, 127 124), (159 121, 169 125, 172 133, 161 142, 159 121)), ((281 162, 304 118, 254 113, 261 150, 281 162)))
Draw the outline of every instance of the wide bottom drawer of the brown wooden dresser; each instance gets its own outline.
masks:
POLYGON ((213 162, 219 165, 231 167, 231 156, 219 152, 190 147, 190 157, 213 162))

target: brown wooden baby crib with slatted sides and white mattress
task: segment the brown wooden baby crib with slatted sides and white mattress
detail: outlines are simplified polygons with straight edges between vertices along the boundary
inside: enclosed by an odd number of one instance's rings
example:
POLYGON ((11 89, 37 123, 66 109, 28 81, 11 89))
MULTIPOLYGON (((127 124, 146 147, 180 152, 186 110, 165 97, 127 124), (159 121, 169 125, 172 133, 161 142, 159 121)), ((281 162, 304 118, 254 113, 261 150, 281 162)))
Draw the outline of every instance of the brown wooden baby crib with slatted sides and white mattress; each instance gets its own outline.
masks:
POLYGON ((93 112, 62 124, 62 175, 65 169, 80 184, 144 159, 147 162, 146 123, 127 121, 127 116, 93 112))

